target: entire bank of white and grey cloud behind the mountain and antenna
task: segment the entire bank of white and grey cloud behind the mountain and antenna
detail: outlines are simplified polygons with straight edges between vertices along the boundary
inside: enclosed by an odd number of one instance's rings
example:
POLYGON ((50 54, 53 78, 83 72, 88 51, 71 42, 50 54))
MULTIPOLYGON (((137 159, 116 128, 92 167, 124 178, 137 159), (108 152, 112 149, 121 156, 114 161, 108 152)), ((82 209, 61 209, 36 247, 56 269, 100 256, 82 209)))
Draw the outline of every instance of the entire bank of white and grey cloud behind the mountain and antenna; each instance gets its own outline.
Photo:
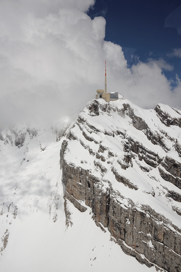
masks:
POLYGON ((122 47, 104 40, 106 21, 84 13, 94 0, 2 0, 0 2, 0 128, 22 120, 71 115, 104 87, 135 104, 163 102, 180 108, 163 74, 164 60, 138 61, 132 69, 122 47))

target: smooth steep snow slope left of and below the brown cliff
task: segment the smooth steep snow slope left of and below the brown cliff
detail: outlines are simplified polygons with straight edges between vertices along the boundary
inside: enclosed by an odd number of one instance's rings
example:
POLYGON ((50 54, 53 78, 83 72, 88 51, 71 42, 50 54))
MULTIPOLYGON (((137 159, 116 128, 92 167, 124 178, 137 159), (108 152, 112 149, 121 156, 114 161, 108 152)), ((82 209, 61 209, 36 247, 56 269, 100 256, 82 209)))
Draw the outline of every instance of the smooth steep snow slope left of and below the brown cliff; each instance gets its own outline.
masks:
POLYGON ((25 125, 0 134, 0 271, 156 271, 110 241, 91 208, 81 213, 64 199, 64 134, 25 125))

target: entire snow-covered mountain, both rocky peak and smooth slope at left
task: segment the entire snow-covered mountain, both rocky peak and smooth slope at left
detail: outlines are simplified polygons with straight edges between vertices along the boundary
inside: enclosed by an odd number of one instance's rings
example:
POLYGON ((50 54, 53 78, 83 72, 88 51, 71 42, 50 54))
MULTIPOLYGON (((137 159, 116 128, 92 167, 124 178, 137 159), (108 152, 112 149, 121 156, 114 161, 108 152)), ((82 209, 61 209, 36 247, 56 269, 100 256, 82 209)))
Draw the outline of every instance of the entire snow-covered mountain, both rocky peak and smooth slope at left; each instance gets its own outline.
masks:
POLYGON ((0 271, 180 272, 180 127, 121 97, 69 127, 3 130, 0 271))

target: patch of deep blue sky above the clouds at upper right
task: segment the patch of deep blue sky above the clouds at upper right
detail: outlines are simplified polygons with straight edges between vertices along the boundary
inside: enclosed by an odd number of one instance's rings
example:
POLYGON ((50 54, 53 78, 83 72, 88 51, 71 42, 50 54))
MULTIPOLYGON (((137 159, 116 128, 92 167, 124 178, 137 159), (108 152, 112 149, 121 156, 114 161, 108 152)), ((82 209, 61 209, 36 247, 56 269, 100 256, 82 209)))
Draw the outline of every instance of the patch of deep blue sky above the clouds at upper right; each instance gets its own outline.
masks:
POLYGON ((87 14, 106 19, 105 40, 122 47, 129 67, 138 58, 163 58, 173 66, 167 78, 181 78, 181 53, 173 54, 181 47, 180 0, 96 0, 87 14))

